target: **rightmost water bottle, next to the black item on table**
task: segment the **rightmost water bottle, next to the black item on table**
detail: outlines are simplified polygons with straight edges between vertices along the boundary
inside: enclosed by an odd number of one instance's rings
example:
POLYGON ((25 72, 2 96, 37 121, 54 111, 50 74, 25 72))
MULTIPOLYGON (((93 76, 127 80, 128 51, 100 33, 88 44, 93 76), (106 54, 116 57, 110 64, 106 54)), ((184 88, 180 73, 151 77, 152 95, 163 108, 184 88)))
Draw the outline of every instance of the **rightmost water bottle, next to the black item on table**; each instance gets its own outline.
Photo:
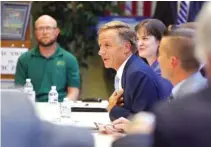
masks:
POLYGON ((63 102, 61 103, 60 112, 62 118, 71 117, 71 102, 68 98, 64 98, 63 102))

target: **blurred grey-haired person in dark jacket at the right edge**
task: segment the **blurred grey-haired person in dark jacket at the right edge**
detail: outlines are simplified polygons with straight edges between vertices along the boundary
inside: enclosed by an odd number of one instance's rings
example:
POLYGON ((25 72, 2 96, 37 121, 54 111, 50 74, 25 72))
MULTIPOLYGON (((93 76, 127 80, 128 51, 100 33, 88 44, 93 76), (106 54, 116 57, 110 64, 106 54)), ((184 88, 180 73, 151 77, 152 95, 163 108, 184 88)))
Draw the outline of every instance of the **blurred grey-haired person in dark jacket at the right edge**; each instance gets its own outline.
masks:
POLYGON ((198 16, 195 55, 205 64, 209 87, 154 108, 155 147, 211 146, 211 3, 198 16))

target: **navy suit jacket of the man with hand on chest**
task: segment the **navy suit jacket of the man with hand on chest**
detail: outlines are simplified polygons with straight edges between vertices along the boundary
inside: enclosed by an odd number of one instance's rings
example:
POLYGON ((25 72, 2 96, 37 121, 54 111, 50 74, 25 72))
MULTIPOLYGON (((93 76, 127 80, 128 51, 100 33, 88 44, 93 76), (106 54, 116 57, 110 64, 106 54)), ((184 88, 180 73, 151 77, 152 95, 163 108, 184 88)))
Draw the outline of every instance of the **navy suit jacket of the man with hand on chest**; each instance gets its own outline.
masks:
POLYGON ((141 58, 132 55, 122 74, 124 106, 114 106, 109 115, 111 120, 129 117, 139 111, 149 111, 160 98, 156 74, 141 58))

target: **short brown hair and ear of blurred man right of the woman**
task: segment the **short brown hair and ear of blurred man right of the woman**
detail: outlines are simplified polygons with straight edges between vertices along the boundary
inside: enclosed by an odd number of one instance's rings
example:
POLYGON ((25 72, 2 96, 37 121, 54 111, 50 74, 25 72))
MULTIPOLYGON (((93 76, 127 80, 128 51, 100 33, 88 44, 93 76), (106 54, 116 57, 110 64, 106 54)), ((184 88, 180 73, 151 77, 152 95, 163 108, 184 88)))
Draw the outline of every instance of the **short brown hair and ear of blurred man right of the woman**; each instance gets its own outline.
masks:
POLYGON ((200 63, 194 54, 195 30, 178 28, 166 32, 163 38, 165 37, 170 38, 169 43, 173 46, 166 50, 167 55, 177 56, 181 61, 181 67, 187 72, 199 69, 200 63))

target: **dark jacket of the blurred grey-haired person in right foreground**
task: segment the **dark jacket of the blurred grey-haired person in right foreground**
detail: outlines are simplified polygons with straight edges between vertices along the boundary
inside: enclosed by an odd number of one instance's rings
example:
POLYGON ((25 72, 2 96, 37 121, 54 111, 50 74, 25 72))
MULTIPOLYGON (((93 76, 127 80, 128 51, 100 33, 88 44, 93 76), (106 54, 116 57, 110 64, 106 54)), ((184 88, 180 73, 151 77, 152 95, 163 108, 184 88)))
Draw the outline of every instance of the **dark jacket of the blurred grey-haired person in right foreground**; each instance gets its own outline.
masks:
POLYGON ((155 147, 211 147, 211 85, 155 106, 155 147))

